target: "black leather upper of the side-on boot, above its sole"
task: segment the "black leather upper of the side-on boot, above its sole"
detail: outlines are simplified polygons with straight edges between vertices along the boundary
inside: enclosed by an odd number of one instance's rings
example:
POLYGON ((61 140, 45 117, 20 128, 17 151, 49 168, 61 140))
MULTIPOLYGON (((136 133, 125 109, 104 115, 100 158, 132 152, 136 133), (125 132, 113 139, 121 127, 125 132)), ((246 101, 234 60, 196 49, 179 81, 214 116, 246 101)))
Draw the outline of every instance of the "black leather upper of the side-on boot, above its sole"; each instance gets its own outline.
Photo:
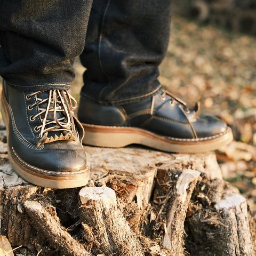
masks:
POLYGON ((173 138, 212 137, 227 130, 227 124, 214 116, 200 116, 196 109, 164 90, 125 105, 101 105, 81 97, 78 119, 82 123, 139 127, 173 138))

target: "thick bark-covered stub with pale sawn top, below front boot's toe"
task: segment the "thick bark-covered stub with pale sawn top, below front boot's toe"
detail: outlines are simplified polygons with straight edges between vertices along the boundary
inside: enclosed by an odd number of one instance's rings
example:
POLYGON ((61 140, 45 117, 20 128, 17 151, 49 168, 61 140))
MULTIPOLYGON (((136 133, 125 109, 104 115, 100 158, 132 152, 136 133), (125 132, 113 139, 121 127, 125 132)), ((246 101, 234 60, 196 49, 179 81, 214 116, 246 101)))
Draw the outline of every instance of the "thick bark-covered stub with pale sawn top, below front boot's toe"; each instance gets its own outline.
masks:
POLYGON ((93 230, 98 250, 106 255, 142 256, 143 249, 129 223, 118 209, 115 191, 111 188, 83 188, 79 192, 81 220, 93 230), (113 221, 114 220, 114 221, 113 221))

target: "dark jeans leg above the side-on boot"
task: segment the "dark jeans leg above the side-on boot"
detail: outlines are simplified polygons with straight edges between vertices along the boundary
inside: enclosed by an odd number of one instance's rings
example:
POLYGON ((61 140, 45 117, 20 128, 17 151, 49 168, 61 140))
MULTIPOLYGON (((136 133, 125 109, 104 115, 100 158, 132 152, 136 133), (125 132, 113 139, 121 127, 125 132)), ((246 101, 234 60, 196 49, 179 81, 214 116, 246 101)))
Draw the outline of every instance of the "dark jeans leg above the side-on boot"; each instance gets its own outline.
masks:
POLYGON ((158 90, 170 21, 171 0, 93 0, 81 93, 115 103, 158 90))

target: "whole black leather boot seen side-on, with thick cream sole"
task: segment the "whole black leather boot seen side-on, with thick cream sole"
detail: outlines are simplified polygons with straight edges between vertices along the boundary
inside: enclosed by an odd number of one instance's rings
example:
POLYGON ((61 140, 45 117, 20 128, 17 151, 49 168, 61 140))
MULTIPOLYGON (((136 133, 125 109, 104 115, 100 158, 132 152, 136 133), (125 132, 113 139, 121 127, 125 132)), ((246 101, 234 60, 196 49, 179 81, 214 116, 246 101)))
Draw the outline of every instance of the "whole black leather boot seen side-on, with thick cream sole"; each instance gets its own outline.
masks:
POLYGON ((81 97, 78 119, 85 130, 83 143, 98 147, 140 144, 175 153, 203 153, 233 140, 230 127, 194 109, 165 90, 133 103, 115 106, 81 97))

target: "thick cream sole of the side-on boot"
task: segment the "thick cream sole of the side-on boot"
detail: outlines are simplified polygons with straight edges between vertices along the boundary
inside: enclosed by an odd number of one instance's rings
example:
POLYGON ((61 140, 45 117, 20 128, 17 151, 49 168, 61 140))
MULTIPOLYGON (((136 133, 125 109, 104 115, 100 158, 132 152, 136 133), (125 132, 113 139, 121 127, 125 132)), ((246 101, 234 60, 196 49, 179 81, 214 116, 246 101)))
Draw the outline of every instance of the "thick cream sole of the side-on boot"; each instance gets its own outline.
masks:
POLYGON ((173 153, 205 153, 227 145, 233 140, 230 127, 225 132, 207 138, 178 139, 164 137, 135 127, 101 126, 82 123, 85 145, 120 148, 139 144, 173 153))

